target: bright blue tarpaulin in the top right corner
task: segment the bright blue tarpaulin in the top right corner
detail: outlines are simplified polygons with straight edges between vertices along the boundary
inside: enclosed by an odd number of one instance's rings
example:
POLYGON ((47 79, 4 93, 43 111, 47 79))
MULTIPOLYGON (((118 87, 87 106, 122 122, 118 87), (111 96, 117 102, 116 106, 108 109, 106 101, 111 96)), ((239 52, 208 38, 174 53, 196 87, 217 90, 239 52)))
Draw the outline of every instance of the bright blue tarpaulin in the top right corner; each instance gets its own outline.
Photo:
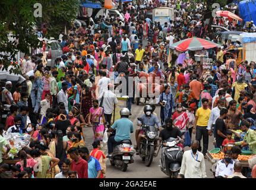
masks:
POLYGON ((256 0, 245 0, 239 2, 239 15, 245 21, 256 23, 256 0))

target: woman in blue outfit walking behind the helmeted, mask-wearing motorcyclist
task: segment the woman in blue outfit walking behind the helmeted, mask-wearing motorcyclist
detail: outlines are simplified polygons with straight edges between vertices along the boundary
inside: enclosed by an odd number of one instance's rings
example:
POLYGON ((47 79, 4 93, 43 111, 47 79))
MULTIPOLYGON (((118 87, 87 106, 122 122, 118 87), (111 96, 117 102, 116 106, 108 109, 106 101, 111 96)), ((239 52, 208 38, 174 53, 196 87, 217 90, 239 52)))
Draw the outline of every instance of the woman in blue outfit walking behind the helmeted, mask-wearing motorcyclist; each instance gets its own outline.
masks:
POLYGON ((165 123, 165 119, 172 116, 172 107, 175 107, 174 99, 172 93, 170 93, 169 85, 165 85, 165 91, 160 94, 159 104, 161 106, 160 118, 163 125, 165 123))

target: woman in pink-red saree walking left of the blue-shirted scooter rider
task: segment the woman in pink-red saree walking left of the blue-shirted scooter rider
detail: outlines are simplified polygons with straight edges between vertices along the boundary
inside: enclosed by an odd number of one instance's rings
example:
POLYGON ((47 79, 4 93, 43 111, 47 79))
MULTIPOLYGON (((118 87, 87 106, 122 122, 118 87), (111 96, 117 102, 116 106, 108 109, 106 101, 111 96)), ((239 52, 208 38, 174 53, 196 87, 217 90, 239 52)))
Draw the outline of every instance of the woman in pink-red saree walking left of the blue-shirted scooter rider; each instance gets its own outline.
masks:
POLYGON ((103 139, 106 122, 103 112, 103 107, 99 107, 99 101, 93 100, 93 107, 90 109, 88 120, 89 124, 92 122, 93 125, 94 140, 103 139))

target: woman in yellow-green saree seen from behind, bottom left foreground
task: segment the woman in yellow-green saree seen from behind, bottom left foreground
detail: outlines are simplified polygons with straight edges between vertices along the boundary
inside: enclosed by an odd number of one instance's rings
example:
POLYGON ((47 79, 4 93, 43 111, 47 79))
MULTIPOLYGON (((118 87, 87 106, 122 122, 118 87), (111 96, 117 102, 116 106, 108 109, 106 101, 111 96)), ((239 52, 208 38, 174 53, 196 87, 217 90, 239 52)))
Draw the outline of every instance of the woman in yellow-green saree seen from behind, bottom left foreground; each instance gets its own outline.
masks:
POLYGON ((36 178, 54 178, 60 172, 59 159, 52 157, 52 154, 46 151, 47 147, 44 145, 39 144, 36 147, 31 151, 31 156, 37 162, 34 166, 36 178))

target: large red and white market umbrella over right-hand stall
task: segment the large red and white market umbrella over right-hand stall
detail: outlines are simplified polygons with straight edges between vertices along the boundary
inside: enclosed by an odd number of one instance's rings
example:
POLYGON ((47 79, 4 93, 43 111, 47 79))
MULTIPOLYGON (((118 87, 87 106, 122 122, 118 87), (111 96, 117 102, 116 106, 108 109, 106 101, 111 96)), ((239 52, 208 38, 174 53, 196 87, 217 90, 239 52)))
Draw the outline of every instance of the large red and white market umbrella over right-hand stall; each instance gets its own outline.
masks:
POLYGON ((213 47, 220 47, 219 44, 211 42, 209 40, 201 39, 199 37, 191 37, 179 42, 173 43, 170 48, 176 49, 180 52, 185 52, 187 50, 195 51, 201 49, 209 49, 213 47))

